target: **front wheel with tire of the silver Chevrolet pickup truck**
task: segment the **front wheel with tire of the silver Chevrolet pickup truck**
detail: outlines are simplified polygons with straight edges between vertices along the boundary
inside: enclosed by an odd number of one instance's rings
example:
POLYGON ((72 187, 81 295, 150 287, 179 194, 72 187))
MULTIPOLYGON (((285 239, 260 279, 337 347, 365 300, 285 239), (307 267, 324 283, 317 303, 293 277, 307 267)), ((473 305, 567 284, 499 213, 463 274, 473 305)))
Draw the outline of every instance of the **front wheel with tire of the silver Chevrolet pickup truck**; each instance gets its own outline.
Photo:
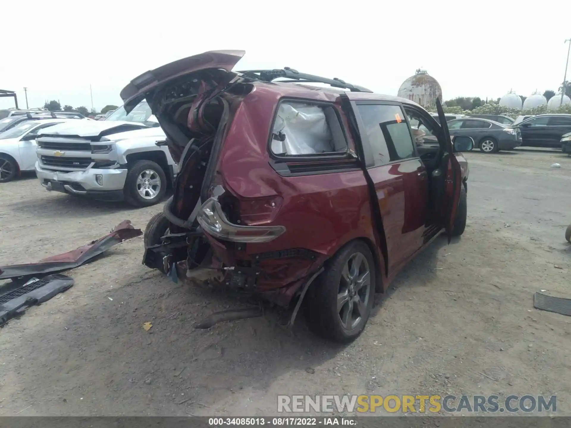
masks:
POLYGON ((167 189, 163 168, 152 160, 138 160, 129 167, 125 187, 125 200, 135 207, 150 207, 160 202, 167 189))

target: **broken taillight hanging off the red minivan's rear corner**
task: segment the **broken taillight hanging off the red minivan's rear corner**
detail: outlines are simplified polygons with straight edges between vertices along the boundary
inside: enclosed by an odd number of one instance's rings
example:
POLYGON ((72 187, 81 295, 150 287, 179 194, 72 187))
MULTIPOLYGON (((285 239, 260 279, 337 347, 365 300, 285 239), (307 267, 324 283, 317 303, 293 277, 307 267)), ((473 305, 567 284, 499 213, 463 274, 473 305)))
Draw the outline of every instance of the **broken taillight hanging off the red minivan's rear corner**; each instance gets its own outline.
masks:
POLYGON ((224 241, 266 243, 286 232, 283 226, 241 226, 228 221, 216 197, 208 199, 196 216, 203 231, 224 241))

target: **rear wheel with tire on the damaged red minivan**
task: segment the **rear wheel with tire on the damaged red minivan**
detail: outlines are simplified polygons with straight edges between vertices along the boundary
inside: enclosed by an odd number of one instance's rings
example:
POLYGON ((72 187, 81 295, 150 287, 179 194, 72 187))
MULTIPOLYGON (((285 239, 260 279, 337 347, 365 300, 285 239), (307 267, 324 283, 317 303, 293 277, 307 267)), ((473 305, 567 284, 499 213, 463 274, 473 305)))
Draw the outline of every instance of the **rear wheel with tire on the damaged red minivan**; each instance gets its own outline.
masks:
POLYGON ((375 262, 367 244, 356 240, 345 245, 308 289, 304 304, 309 329, 336 342, 354 340, 371 314, 375 280, 375 262), (353 263, 359 264, 356 272, 353 263), (351 279, 345 280, 346 276, 351 279), (358 278, 363 280, 360 287, 358 278), (344 302, 339 299, 342 295, 347 298, 344 302))

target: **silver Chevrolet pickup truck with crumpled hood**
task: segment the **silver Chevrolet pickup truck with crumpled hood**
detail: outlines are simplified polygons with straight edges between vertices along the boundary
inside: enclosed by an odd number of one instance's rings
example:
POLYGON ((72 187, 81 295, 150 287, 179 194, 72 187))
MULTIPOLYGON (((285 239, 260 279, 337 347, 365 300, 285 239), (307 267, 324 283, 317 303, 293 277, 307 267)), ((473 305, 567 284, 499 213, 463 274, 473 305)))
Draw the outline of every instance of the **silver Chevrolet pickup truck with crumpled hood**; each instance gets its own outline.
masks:
POLYGON ((127 114, 119 107, 105 120, 77 120, 38 136, 36 175, 49 191, 158 203, 178 172, 165 135, 147 102, 127 114))

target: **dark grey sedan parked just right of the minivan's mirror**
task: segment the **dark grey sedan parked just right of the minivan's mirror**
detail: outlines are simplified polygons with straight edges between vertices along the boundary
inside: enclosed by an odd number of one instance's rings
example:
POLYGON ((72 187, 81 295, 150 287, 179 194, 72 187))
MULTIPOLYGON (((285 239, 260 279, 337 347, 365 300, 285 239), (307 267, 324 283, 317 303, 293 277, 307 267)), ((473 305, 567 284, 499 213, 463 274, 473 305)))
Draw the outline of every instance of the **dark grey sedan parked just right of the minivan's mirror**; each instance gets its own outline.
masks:
POLYGON ((480 118, 456 119, 448 122, 450 135, 472 137, 474 147, 482 153, 490 154, 498 150, 512 150, 521 146, 520 130, 493 120, 480 118))

